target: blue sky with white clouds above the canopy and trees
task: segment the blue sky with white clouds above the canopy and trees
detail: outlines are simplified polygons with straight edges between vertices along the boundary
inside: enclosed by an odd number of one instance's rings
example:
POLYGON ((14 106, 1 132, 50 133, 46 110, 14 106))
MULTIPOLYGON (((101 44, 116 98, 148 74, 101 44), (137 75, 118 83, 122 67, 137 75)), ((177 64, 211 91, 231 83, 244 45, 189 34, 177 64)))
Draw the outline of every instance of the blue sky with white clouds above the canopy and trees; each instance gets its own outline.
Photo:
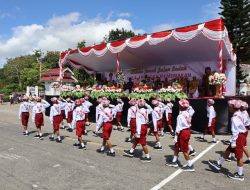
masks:
POLYGON ((33 49, 99 43, 112 28, 139 33, 218 18, 218 0, 0 0, 0 67, 33 49))

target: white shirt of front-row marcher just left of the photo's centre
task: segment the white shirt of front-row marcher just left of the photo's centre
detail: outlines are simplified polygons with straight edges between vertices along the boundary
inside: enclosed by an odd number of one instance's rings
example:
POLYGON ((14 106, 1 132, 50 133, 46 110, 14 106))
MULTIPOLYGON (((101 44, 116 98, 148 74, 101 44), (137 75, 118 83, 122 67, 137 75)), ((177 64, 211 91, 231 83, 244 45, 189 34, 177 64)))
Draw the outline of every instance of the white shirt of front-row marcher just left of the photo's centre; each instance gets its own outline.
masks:
POLYGON ((102 123, 106 122, 112 122, 115 115, 116 115, 116 109, 115 108, 110 108, 106 107, 100 110, 99 112, 99 119, 97 121, 97 129, 99 130, 102 123))

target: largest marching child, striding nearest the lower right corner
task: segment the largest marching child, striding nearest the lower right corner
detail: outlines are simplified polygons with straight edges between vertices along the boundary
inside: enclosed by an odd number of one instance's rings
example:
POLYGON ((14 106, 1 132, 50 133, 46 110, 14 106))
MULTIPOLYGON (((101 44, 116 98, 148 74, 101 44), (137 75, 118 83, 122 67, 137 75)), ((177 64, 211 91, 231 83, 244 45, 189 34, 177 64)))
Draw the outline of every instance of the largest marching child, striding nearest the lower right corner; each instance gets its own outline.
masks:
POLYGON ((243 174, 243 152, 244 146, 246 144, 246 127, 244 126, 244 120, 242 113, 240 111, 241 108, 241 101, 240 100, 230 100, 229 104, 229 111, 233 113, 231 118, 231 131, 232 137, 230 139, 230 145, 227 147, 223 156, 220 157, 218 161, 209 160, 208 163, 215 168, 216 170, 220 171, 222 168, 222 164, 224 163, 225 159, 228 158, 229 154, 232 152, 235 154, 237 159, 237 172, 233 175, 228 174, 228 177, 235 180, 244 181, 244 174, 243 174))

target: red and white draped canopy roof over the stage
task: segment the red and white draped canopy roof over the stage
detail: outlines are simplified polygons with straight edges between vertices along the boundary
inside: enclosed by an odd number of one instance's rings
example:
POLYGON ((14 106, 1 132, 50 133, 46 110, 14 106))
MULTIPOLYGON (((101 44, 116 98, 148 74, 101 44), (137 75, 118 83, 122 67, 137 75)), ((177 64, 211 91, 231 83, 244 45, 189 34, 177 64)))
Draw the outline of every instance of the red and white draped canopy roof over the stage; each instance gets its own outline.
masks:
MULTIPOLYGON (((152 65, 196 64, 198 66, 198 64, 203 64, 205 67, 211 64, 215 70, 226 72, 228 68, 221 68, 222 60, 227 63, 234 63, 236 60, 227 29, 223 21, 217 19, 174 30, 70 50, 61 53, 59 64, 62 67, 64 63, 69 62, 74 67, 83 67, 90 73, 112 72, 116 70, 117 55, 119 55, 122 70, 152 65), (219 45, 220 43, 222 46, 219 45), (222 52, 220 52, 221 49, 222 52)), ((204 69, 199 72, 204 72, 204 69)), ((230 76, 234 74, 231 72, 230 76)))

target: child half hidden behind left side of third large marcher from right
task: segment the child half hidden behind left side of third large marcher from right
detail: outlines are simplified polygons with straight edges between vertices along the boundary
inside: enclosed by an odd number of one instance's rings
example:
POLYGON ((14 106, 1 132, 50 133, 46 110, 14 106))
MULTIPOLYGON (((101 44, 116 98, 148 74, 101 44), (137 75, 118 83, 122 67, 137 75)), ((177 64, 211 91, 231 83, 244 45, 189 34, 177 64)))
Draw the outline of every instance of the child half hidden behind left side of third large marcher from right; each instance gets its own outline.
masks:
POLYGON ((125 140, 125 142, 131 142, 136 133, 136 99, 132 98, 129 102, 130 108, 128 109, 127 123, 130 128, 130 137, 125 140))

